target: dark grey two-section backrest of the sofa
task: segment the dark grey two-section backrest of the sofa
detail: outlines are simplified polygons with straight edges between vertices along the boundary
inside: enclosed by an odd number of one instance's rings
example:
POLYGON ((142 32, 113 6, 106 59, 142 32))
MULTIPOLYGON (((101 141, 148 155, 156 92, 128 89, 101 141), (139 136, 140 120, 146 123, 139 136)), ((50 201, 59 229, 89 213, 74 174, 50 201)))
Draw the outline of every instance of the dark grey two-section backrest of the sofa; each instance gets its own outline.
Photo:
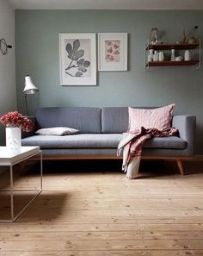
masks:
MULTIPOLYGON (((136 107, 156 109, 156 107, 136 107)), ((38 128, 69 127, 84 134, 121 134, 128 128, 128 107, 50 107, 36 111, 38 128)))

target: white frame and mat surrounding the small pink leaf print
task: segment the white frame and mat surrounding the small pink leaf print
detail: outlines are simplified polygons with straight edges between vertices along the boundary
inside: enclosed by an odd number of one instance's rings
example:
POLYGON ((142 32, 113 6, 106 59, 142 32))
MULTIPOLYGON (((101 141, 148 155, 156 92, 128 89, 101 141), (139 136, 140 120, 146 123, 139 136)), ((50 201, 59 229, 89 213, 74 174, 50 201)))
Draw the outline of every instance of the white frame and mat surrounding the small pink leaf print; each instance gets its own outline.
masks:
POLYGON ((99 33, 98 34, 98 70, 126 71, 127 70, 127 33, 99 33), (105 41, 120 41, 120 61, 107 62, 105 55, 105 41))

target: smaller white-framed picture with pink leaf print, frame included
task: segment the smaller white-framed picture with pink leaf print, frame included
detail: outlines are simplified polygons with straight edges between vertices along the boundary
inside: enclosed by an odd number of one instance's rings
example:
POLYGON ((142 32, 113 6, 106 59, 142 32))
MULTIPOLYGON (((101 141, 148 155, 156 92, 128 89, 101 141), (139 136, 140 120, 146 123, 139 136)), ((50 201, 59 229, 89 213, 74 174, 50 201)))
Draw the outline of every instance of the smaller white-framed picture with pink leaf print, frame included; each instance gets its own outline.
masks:
POLYGON ((127 71, 127 33, 98 34, 98 70, 127 71))

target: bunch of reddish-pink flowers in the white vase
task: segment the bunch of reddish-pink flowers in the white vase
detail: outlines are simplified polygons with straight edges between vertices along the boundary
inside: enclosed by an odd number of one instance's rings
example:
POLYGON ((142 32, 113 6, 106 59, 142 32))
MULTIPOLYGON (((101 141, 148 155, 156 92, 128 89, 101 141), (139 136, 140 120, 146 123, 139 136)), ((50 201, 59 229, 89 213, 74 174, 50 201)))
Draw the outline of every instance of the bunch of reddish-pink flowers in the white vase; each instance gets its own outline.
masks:
POLYGON ((18 111, 9 112, 1 116, 0 122, 6 127, 21 128, 24 132, 30 132, 34 128, 34 124, 27 117, 22 116, 18 111))

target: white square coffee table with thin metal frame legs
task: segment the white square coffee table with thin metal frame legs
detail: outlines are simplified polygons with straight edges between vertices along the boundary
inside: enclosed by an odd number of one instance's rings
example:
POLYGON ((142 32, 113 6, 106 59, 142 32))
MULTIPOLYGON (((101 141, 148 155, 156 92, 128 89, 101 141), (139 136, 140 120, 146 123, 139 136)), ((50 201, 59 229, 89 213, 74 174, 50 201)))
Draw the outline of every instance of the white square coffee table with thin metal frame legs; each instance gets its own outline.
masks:
POLYGON ((10 219, 0 220, 0 222, 15 222, 15 220, 22 214, 22 212, 28 208, 28 205, 34 201, 40 192, 42 191, 42 153, 40 147, 21 147, 20 153, 10 153, 6 147, 0 147, 0 166, 9 166, 9 177, 10 177, 10 187, 9 189, 4 189, 0 191, 10 192, 10 219), (26 159, 30 159, 33 156, 40 154, 40 188, 35 190, 15 190, 14 180, 13 180, 13 165, 21 163, 26 159), (14 215, 14 192, 15 191, 36 191, 34 197, 32 197, 28 203, 22 208, 22 210, 14 215))

